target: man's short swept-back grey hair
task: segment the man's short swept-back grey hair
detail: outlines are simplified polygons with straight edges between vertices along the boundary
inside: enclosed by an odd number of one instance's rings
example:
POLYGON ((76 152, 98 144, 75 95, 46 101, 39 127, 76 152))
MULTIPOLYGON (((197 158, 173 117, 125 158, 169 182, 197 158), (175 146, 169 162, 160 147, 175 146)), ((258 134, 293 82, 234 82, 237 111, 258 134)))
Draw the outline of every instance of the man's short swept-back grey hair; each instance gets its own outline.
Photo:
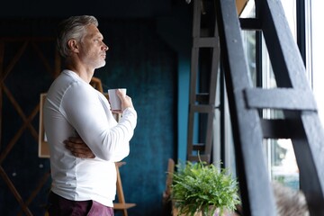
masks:
POLYGON ((90 24, 98 26, 97 19, 91 15, 71 16, 58 24, 57 45, 62 57, 69 56, 68 40, 81 41, 85 34, 85 27, 90 24))

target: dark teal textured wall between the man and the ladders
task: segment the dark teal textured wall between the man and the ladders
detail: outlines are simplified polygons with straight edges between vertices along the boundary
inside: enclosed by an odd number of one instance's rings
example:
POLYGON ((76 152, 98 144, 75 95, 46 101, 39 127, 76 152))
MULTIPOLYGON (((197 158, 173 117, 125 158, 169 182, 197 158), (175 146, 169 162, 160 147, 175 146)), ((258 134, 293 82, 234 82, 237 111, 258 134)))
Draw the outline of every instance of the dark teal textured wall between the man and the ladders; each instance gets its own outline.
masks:
POLYGON ((102 24, 110 47, 107 65, 95 72, 103 90, 127 87, 138 112, 130 156, 121 167, 130 215, 158 215, 165 190, 167 159, 175 157, 177 53, 157 34, 150 20, 102 24))

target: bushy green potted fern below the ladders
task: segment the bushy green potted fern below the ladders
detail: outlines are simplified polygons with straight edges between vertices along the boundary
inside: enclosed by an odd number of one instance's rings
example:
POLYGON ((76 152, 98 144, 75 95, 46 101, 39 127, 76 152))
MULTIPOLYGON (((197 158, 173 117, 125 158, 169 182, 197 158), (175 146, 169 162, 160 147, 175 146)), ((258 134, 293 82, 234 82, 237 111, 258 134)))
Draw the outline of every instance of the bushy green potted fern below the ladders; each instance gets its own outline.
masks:
POLYGON ((240 202, 238 182, 227 169, 202 161, 187 161, 176 167, 171 184, 174 215, 212 216, 236 210, 240 202))

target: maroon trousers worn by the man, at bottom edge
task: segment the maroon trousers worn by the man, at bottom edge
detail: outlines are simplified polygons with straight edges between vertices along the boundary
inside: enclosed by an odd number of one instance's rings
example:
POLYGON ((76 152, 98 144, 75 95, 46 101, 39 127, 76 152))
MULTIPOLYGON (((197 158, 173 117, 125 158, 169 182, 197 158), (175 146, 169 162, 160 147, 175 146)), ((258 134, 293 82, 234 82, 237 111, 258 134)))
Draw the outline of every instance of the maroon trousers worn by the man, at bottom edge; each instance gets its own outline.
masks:
POLYGON ((56 193, 49 193, 49 216, 113 216, 112 207, 99 202, 70 201, 56 193))

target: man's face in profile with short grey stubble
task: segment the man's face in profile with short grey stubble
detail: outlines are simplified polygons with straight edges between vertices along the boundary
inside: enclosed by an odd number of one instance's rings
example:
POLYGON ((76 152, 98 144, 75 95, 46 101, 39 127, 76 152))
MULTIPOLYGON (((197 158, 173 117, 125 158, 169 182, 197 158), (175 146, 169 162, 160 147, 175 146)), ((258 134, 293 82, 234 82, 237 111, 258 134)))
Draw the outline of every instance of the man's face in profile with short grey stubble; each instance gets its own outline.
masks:
POLYGON ((85 37, 80 42, 79 58, 87 67, 99 68, 105 65, 106 50, 103 35, 93 24, 86 27, 85 37))

